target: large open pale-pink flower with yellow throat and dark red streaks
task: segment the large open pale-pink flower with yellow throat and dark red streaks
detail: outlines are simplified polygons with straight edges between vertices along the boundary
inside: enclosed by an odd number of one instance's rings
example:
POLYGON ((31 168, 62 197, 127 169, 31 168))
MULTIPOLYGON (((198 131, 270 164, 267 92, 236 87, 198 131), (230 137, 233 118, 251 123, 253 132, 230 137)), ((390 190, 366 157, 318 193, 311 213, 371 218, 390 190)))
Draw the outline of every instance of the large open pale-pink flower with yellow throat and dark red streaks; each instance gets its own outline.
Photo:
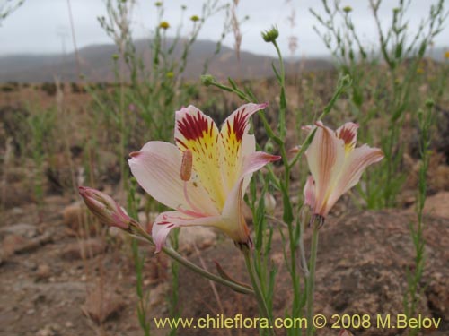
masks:
POLYGON ((156 252, 172 228, 219 228, 237 244, 251 244, 242 199, 251 174, 280 159, 255 151, 249 119, 267 104, 243 105, 221 130, 211 117, 189 106, 176 112, 175 145, 147 142, 131 153, 129 167, 154 199, 175 211, 161 213, 152 229, 156 252))

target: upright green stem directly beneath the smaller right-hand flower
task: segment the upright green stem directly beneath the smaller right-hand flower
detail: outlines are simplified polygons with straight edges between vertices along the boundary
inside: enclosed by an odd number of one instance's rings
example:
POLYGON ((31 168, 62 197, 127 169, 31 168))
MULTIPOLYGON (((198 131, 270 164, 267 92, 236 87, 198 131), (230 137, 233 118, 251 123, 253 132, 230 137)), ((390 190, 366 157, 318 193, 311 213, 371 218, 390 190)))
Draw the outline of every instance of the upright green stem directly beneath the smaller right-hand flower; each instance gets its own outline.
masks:
POLYGON ((307 336, 313 336, 313 290, 315 287, 316 252, 318 250, 318 229, 321 220, 313 220, 312 245, 309 260, 309 276, 306 282, 307 293, 307 336))

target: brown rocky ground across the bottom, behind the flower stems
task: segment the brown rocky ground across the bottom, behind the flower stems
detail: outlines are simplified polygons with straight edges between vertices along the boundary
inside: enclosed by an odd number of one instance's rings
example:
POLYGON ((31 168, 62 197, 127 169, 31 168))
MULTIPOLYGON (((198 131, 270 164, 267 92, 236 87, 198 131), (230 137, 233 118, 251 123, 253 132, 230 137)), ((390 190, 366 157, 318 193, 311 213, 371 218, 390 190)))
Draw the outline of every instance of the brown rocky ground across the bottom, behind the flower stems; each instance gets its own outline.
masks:
MULTIPOLYGON (((136 319, 136 275, 126 237, 105 235, 99 228, 84 228, 84 209, 62 196, 4 211, 0 226, 0 335, 75 336, 142 335, 136 319)), ((419 311, 441 318, 438 330, 423 335, 449 334, 449 193, 427 202, 426 270, 421 282, 419 311)), ((401 314, 405 274, 413 267, 409 223, 412 210, 345 211, 321 228, 316 312, 332 314, 401 314)), ((308 234, 308 233, 307 233, 308 234)), ((277 275, 275 314, 284 316, 292 299, 283 264, 280 237, 273 243, 277 275)), ((308 237, 305 242, 308 245, 308 237)), ((170 291, 168 261, 147 254, 145 288, 151 289, 151 316, 168 315, 170 291)), ((236 279, 246 280, 238 250, 228 239, 208 230, 184 230, 183 254, 215 271, 219 262, 236 279), (198 247, 198 248, 196 248, 198 247)), ((180 307, 184 317, 207 314, 257 315, 255 300, 216 285, 190 271, 180 270, 180 307)), ((152 334, 164 335, 166 330, 152 334)), ((401 335, 399 330, 353 330, 354 335, 401 335)), ((180 335, 235 334, 256 331, 182 330, 180 335)), ((278 332, 284 334, 284 332, 278 332)), ((322 329, 318 336, 337 335, 322 329)))

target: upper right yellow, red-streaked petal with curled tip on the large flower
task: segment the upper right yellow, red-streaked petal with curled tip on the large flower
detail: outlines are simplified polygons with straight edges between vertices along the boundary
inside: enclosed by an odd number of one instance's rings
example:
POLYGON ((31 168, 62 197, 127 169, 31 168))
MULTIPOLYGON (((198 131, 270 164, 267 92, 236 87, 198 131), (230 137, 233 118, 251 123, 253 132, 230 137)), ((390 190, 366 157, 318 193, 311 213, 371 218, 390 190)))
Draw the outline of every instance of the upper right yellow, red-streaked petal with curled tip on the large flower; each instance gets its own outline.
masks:
POLYGON ((223 142, 225 191, 229 192, 237 182, 244 155, 256 150, 254 135, 248 134, 250 117, 268 104, 245 104, 225 119, 220 130, 223 142), (246 143, 245 143, 246 142, 246 143))

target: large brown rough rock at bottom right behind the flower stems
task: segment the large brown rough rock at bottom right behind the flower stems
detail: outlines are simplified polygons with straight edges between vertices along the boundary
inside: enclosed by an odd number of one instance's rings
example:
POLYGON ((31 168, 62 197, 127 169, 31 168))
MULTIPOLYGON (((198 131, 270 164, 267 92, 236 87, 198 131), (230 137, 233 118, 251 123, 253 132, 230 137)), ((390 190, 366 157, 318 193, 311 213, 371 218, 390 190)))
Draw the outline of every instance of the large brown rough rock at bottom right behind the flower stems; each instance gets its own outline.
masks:
MULTIPOLYGON (((320 229, 318 257, 315 281, 316 314, 324 314, 328 327, 317 335, 337 336, 339 331, 330 329, 333 314, 404 314, 403 299, 407 290, 407 271, 413 271, 415 247, 409 232, 409 223, 415 215, 409 211, 350 211, 336 219, 330 216, 320 229)), ((437 332, 426 334, 449 335, 449 225, 441 217, 427 217, 424 235, 426 240, 426 264, 422 279, 418 284, 418 304, 416 314, 426 317, 441 317, 437 332)), ((286 233, 285 233, 286 235, 286 233)), ((304 247, 308 254, 311 229, 306 228, 304 247)), ((272 253, 277 264, 276 290, 273 297, 273 314, 283 316, 293 300, 292 283, 286 264, 282 261, 283 240, 277 232, 273 235, 272 253), (279 255, 280 254, 280 255, 279 255), (277 260, 281 259, 281 263, 277 260)), ((224 270, 235 280, 249 282, 246 276, 242 255, 231 242, 216 244, 203 251, 201 260, 213 268, 213 261, 221 264, 224 270)), ((195 254, 189 258, 200 264, 195 254)), ((299 270, 301 274, 303 271, 299 270)), ((301 275, 303 281, 303 275, 301 275)), ((304 282, 302 282, 303 285, 304 282)), ((207 289, 207 280, 194 272, 186 271, 182 275, 180 302, 184 311, 196 315, 208 314, 204 306, 207 300, 213 300, 212 291, 207 289), (204 289, 195 294, 192 289, 204 289), (209 293, 209 294, 207 294, 209 293)), ((235 306, 239 297, 231 289, 216 286, 224 306, 235 306)), ((242 314, 257 314, 254 300, 245 297, 242 314)), ((374 320, 372 320, 374 321, 374 320)), ((357 336, 396 336, 407 332, 395 329, 367 328, 354 330, 357 336)), ((425 332, 422 334, 424 335, 425 332)), ((201 335, 200 331, 189 333, 201 335)))

